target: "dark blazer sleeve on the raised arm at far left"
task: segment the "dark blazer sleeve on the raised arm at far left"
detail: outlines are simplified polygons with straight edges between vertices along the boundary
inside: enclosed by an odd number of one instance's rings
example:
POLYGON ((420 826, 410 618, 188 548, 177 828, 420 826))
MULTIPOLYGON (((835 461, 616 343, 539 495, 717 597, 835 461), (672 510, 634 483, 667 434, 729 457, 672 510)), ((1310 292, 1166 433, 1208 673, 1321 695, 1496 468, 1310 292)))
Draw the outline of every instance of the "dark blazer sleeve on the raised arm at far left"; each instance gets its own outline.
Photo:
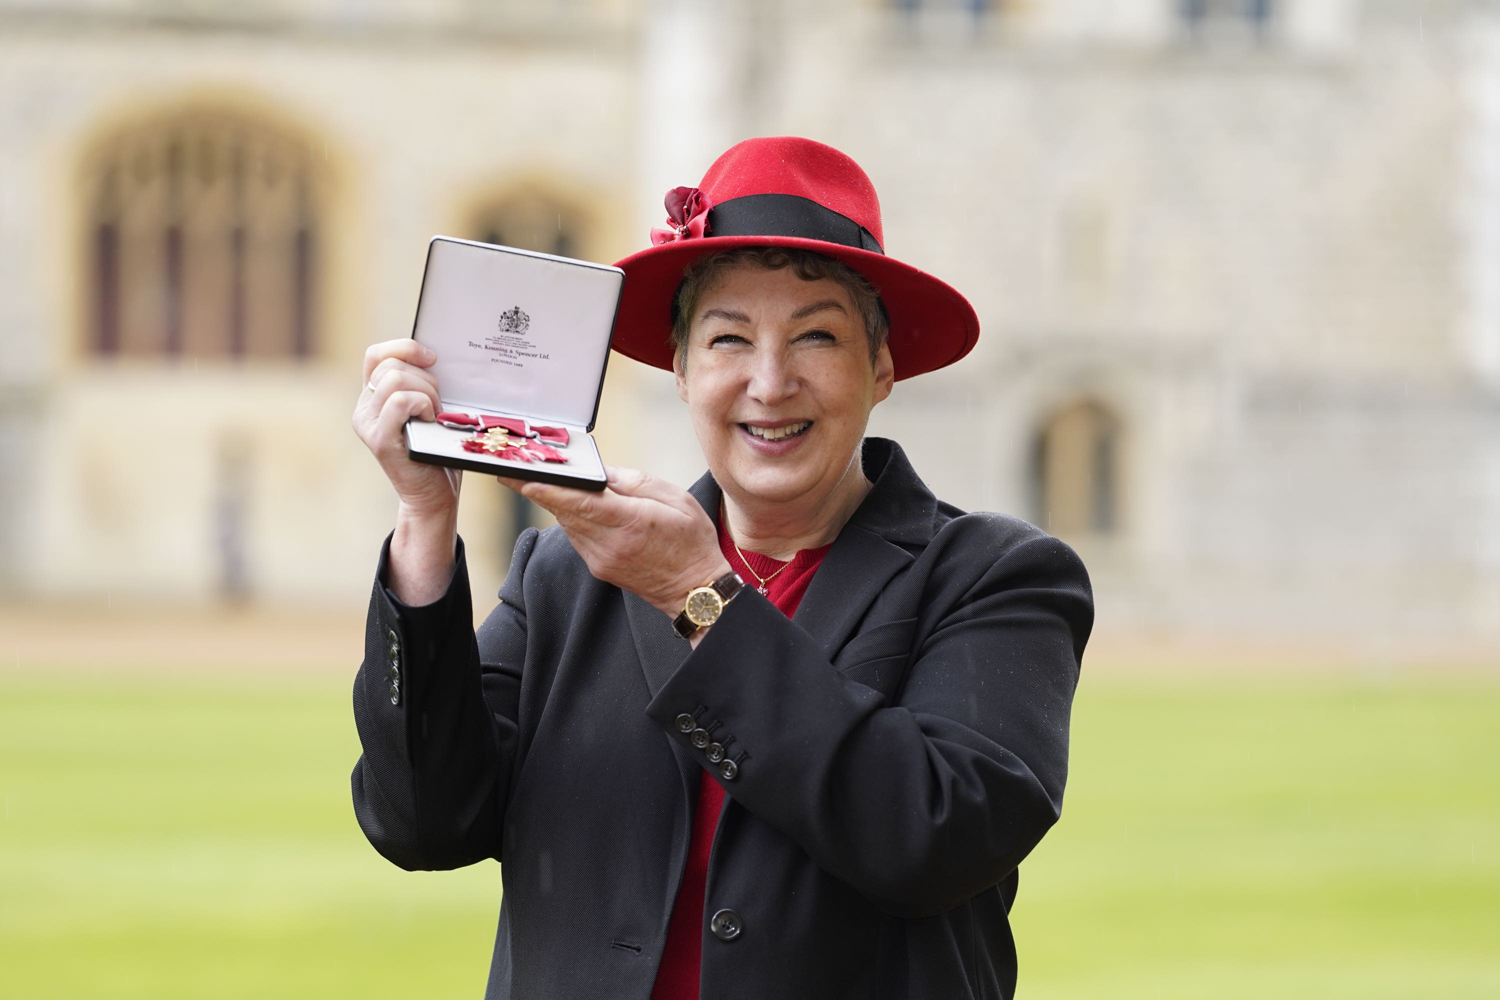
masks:
POLYGON ((410 871, 500 858, 526 649, 519 580, 536 537, 532 529, 516 543, 501 603, 480 637, 462 540, 447 591, 422 607, 387 589, 388 537, 381 547, 354 681, 363 751, 354 816, 375 850, 410 871))

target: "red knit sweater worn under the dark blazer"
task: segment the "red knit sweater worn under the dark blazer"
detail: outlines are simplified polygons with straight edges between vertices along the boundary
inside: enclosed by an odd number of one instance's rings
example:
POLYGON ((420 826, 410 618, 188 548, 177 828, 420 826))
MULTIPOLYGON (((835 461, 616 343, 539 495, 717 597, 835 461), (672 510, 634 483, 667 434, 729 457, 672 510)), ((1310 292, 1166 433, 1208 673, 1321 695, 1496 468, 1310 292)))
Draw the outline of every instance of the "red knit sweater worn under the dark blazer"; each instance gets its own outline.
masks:
MULTIPOLYGON (((766 598, 788 618, 796 613, 796 606, 807 594, 807 585, 813 582, 813 573, 831 547, 802 549, 792 556, 790 564, 777 562, 759 552, 746 552, 746 559, 741 559, 729 532, 723 523, 718 525, 718 549, 729 559, 729 567, 748 586, 756 586, 758 576, 768 580, 766 598)), ((714 849, 714 831, 718 828, 718 813, 723 807, 723 786, 708 777, 708 771, 702 771, 698 783, 698 807, 693 810, 693 832, 687 847, 687 868, 682 873, 682 886, 676 891, 676 904, 672 907, 672 922, 668 925, 666 948, 662 952, 662 967, 657 969, 651 1000, 698 1000, 706 927, 704 892, 708 883, 708 855, 714 849)))

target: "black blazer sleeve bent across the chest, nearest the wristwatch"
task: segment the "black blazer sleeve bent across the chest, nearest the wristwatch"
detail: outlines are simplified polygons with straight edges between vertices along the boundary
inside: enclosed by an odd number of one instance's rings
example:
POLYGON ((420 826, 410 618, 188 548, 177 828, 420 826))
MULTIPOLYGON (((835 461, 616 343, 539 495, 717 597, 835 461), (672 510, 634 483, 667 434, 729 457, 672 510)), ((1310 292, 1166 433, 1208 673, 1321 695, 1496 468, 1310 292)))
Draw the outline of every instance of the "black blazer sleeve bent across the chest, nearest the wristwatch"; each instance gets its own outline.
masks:
POLYGON ((682 714, 717 723, 736 766, 696 756, 729 796, 903 918, 996 885, 1058 820, 1094 621, 1066 544, 1041 532, 1017 544, 984 526, 956 534, 897 703, 843 676, 747 588, 648 708, 688 747, 682 714))

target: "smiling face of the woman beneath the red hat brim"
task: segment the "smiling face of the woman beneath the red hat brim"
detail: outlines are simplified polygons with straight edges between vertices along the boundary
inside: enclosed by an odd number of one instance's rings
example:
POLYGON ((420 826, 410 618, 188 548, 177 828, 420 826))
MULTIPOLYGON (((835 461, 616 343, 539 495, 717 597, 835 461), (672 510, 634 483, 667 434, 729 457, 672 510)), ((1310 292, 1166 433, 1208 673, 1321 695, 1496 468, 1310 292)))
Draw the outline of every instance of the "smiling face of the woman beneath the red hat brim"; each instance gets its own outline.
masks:
POLYGON ((891 394, 849 292, 790 267, 747 264, 698 298, 676 391, 714 478, 744 507, 818 510, 858 465, 870 409, 891 394))

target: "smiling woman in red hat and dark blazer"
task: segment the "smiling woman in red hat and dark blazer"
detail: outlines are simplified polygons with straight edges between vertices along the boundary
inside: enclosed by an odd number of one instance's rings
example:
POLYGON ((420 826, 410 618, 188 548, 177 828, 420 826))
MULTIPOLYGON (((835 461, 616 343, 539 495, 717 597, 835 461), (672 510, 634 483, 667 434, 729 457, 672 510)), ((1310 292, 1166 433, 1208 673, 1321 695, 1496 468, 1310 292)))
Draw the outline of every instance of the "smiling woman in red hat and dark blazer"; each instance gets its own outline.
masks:
POLYGON ((354 691, 360 826, 404 868, 502 862, 489 997, 1010 997, 1088 576, 864 439, 974 310, 884 255, 868 178, 818 142, 741 142, 668 210, 621 261, 615 346, 676 373, 710 472, 502 480, 560 528, 520 537, 477 636, 459 474, 400 444, 432 354, 366 355, 354 424, 400 505, 354 691))

